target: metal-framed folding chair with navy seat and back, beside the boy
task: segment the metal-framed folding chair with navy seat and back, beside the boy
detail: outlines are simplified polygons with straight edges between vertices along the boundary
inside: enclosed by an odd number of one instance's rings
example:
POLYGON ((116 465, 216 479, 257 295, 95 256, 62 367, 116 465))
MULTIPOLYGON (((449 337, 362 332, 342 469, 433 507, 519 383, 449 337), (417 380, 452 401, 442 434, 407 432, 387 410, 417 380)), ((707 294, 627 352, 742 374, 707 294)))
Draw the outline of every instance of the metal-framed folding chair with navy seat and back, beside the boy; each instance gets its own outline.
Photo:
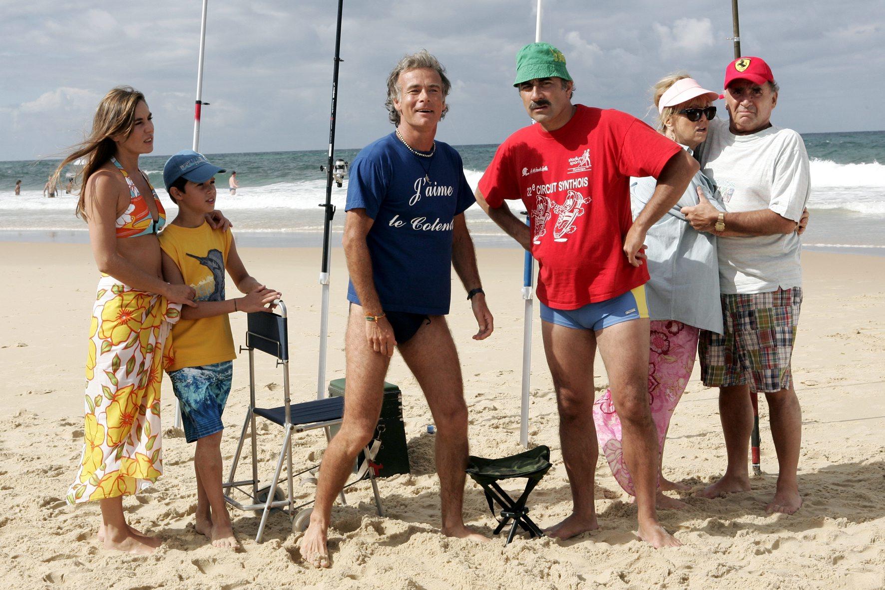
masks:
MULTIPOLYGON (((326 429, 327 440, 329 438, 329 426, 340 425, 344 416, 344 398, 328 397, 325 399, 313 400, 311 402, 295 403, 289 402, 289 327, 286 318, 286 305, 278 300, 277 310, 279 313, 270 311, 258 311, 248 314, 247 331, 246 331, 246 348, 249 350, 249 409, 246 410, 246 418, 242 423, 242 432, 240 433, 240 441, 236 447, 234 463, 230 467, 230 474, 227 482, 222 484, 225 489, 225 500, 239 510, 262 510, 261 523, 258 525, 258 534, 255 540, 260 543, 265 532, 267 516, 273 509, 282 510, 289 515, 289 519, 296 522, 296 525, 306 523, 306 517, 310 515, 310 509, 303 509, 313 503, 304 502, 295 505, 294 480, 296 477, 307 473, 308 471, 315 473, 319 464, 310 465, 301 471, 292 471, 292 435, 296 433, 304 433, 309 430, 318 428, 326 429), (283 405, 277 408, 257 408, 255 406, 255 351, 265 352, 276 358, 277 366, 282 366, 282 383, 283 383, 283 405), (280 425, 284 429, 282 448, 280 457, 277 460, 276 470, 273 471, 273 479, 268 487, 258 487, 258 440, 255 430, 255 417, 260 416, 280 425), (252 447, 252 478, 235 481, 236 466, 240 461, 242 445, 246 441, 247 433, 250 434, 252 447), (286 475, 288 493, 278 494, 277 484, 280 483, 282 465, 286 462, 286 475), (245 489, 244 489, 245 488, 245 489), (249 489, 250 488, 250 489, 249 489), (243 503, 236 501, 230 494, 236 489, 242 494, 246 494, 252 503, 243 503), (266 494, 266 498, 263 495, 266 494), (274 496, 285 496, 275 498, 274 496)), ((243 348, 240 348, 242 352, 243 348)), ((372 441, 364 449, 366 460, 357 471, 356 478, 347 486, 350 487, 368 474, 372 480, 372 491, 375 496, 375 507, 379 516, 384 516, 384 510, 381 508, 381 496, 378 494, 378 484, 375 481, 378 465, 373 464, 372 459, 381 447, 381 441, 372 441)), ((342 490, 339 495, 342 503, 347 503, 342 490)))

